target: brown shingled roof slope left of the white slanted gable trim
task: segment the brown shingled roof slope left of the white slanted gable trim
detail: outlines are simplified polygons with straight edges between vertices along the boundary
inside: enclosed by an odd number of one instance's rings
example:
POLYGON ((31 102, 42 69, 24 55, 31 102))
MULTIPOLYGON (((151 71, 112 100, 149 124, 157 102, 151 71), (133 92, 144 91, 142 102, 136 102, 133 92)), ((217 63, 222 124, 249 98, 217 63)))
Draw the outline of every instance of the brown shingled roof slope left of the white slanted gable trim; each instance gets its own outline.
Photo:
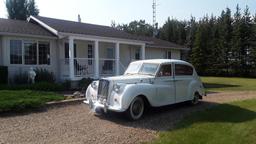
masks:
POLYGON ((3 18, 0 18, 0 34, 1 33, 54 37, 52 33, 39 25, 27 21, 3 18))

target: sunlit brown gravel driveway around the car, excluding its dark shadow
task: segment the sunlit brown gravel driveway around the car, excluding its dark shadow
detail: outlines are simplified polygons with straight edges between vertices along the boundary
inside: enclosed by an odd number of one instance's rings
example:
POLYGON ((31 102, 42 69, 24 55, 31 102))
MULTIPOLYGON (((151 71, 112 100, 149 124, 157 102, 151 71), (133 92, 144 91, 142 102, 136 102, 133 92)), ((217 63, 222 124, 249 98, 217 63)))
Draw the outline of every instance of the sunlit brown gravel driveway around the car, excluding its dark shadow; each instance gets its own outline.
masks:
POLYGON ((209 94, 197 106, 178 104, 150 109, 142 120, 128 122, 121 114, 94 116, 85 104, 66 105, 47 111, 0 116, 2 143, 140 143, 154 139, 187 114, 217 103, 256 98, 256 92, 209 94))

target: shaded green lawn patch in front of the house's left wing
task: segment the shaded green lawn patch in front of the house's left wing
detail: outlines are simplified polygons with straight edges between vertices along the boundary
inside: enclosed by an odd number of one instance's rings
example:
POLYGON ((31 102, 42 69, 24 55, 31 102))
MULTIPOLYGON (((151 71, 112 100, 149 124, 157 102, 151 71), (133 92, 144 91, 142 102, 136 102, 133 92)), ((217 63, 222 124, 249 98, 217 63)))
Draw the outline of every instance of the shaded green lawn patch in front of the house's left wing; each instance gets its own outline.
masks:
POLYGON ((0 112, 38 108, 46 102, 62 99, 63 96, 53 92, 0 90, 0 112))

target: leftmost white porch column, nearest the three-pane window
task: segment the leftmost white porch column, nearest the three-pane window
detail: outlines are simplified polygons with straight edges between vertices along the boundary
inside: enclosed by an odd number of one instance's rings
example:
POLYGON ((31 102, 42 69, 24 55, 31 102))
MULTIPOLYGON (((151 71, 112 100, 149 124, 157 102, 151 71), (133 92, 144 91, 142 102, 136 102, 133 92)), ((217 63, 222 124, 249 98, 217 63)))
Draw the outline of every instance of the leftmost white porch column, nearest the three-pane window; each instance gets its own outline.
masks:
POLYGON ((75 75, 74 75, 74 38, 69 37, 69 77, 70 80, 73 80, 75 75))

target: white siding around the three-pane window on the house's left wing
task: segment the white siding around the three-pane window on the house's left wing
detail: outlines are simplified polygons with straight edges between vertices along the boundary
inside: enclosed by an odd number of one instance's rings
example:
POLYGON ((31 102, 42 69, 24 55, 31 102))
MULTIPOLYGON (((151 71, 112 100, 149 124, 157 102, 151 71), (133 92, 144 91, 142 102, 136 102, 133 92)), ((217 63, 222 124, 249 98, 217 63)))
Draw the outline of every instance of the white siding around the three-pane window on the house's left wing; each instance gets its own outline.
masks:
MULTIPOLYGON (((8 66, 9 78, 13 78, 14 75, 18 73, 27 72, 31 67, 33 68, 45 68, 50 72, 53 72, 58 79, 58 57, 57 57, 57 43, 56 40, 50 39, 39 39, 32 37, 11 37, 3 36, 2 37, 3 47, 3 65, 8 66), (24 64, 10 64, 10 40, 35 40, 35 41, 49 41, 50 42, 50 65, 24 65, 24 64)), ((24 63, 24 60, 23 60, 24 63)))

